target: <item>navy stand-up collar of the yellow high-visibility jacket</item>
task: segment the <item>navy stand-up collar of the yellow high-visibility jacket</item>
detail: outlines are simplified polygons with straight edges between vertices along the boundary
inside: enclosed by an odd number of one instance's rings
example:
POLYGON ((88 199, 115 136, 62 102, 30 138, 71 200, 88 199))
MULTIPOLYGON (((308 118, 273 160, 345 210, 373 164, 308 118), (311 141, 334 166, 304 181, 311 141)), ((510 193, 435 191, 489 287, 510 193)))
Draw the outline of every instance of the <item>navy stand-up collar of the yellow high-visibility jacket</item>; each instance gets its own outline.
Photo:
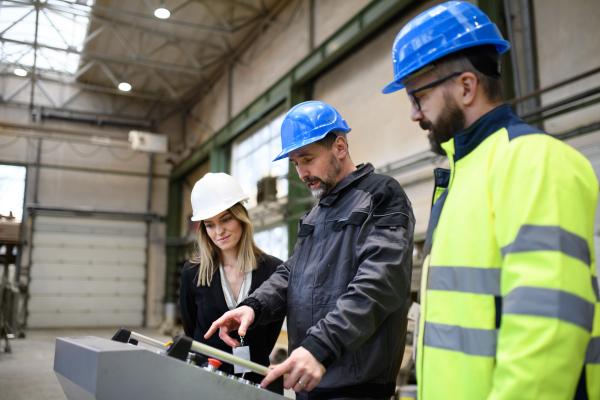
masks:
POLYGON ((442 148, 454 162, 466 157, 494 132, 510 125, 519 119, 509 104, 502 104, 484 114, 468 128, 454 135, 453 140, 442 143, 442 148))

